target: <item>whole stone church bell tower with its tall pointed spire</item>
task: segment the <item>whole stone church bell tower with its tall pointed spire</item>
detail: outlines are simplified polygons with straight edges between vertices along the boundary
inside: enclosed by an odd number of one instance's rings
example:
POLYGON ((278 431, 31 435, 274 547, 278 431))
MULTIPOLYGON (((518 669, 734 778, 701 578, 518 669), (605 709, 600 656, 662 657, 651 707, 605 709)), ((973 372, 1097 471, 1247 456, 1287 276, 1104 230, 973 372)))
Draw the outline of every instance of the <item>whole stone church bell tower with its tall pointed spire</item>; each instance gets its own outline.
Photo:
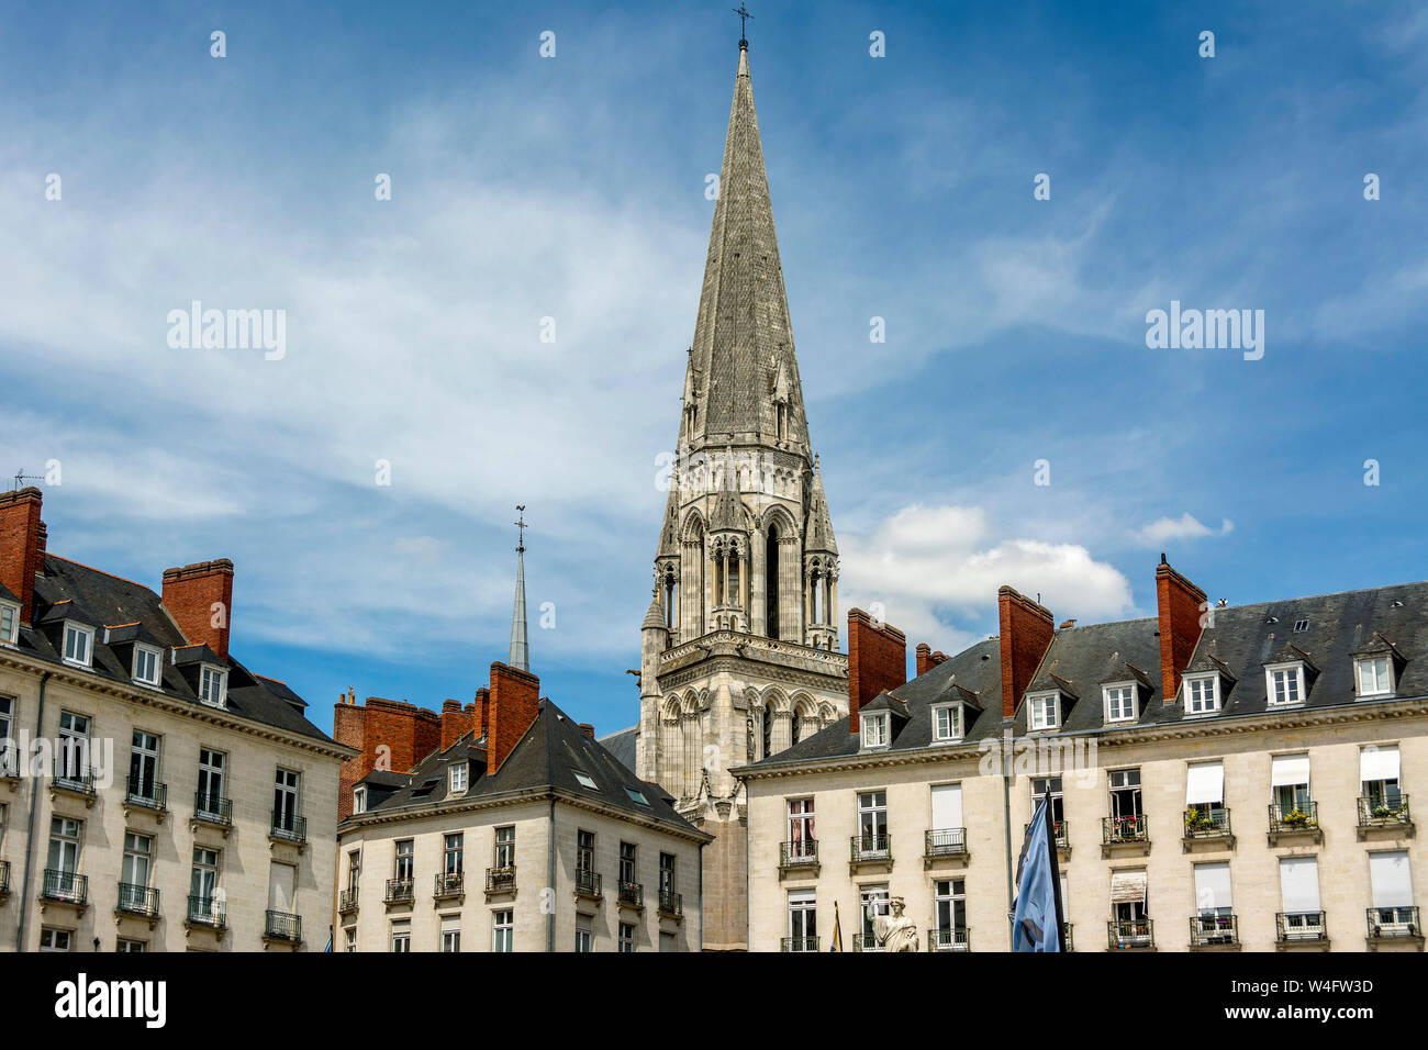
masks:
POLYGON ((747 947, 744 799, 728 770, 848 710, 838 544, 808 439, 740 41, 677 463, 641 629, 637 773, 704 850, 704 944, 747 947))

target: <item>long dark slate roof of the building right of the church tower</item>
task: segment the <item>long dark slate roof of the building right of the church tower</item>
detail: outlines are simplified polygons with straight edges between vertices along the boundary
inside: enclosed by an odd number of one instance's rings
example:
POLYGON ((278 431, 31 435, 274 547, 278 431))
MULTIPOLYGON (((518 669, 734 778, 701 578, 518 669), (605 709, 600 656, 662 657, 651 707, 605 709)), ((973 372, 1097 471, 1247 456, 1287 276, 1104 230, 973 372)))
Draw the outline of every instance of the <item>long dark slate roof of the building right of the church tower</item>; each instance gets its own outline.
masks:
MULTIPOLYGON (((1214 623, 1201 633, 1187 669, 1187 673, 1215 671, 1224 676, 1222 707, 1208 716, 1187 716, 1178 696, 1168 700, 1164 696, 1158 629, 1157 617, 1145 617, 1058 630, 1027 690, 1060 689, 1065 697, 1061 726, 1045 733, 1100 733, 1127 724, 1214 721, 1282 710, 1269 707, 1264 673, 1265 663, 1281 659, 1302 659, 1305 663, 1307 697, 1297 709, 1354 704, 1354 656, 1388 653, 1389 644, 1397 656, 1395 693, 1389 700, 1428 697, 1428 583, 1214 610, 1214 623), (1299 624, 1302 629, 1295 630, 1299 624), (1115 681, 1135 681, 1141 687, 1135 723, 1108 726, 1104 721, 1101 687, 1115 681)), ((962 743, 975 744, 1000 736, 1000 641, 990 639, 890 690, 907 706, 910 717, 901 729, 894 724, 895 736, 887 750, 930 747, 931 707, 960 699, 957 687, 972 690, 982 709, 980 714, 968 709, 970 724, 962 743)), ((1022 700, 1024 696, 1017 697, 1012 726, 1017 736, 1027 734, 1027 704, 1022 700)), ((843 719, 770 759, 751 763, 748 769, 837 759, 858 750, 860 740, 848 731, 848 719, 843 719)))

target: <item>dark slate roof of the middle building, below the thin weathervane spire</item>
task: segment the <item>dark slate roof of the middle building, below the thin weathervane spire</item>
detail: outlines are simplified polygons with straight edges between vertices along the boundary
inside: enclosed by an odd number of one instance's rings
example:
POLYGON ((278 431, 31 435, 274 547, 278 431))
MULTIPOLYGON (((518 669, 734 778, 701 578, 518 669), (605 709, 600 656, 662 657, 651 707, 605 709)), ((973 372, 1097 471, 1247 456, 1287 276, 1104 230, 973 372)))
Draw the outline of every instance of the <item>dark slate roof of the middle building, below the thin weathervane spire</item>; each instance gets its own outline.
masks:
MULTIPOLYGON (((555 789, 698 834, 693 824, 674 811, 674 797, 668 791, 658 784, 640 780, 628 766, 615 759, 600 741, 585 736, 585 731, 550 700, 540 701, 536 721, 501 763, 498 771, 486 771, 484 741, 473 740, 473 734, 467 733, 444 751, 436 750, 418 761, 404 774, 406 783, 398 790, 376 804, 368 799, 367 813, 354 816, 447 801, 453 797, 448 769, 463 761, 470 764, 471 779, 470 787, 454 796, 458 799, 555 789), (595 787, 581 784, 575 779, 577 771, 594 780, 595 787), (631 791, 638 791, 648 804, 637 801, 631 791)), ((357 783, 370 784, 374 776, 368 773, 357 783)))

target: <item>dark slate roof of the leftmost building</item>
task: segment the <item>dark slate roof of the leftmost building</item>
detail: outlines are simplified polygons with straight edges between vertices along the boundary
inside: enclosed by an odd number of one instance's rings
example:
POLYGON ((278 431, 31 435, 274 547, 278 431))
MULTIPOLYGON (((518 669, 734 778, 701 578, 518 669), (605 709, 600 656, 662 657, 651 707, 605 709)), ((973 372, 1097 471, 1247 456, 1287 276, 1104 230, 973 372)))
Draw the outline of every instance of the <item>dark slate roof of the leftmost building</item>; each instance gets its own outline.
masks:
POLYGON ((140 583, 47 553, 44 573, 34 579, 31 619, 34 626, 21 627, 16 643, 29 657, 66 666, 64 621, 73 619, 96 629, 91 673, 100 679, 131 684, 134 643, 159 646, 164 650, 160 684, 170 699, 213 710, 198 700, 197 664, 207 660, 228 670, 230 714, 331 743, 307 720, 306 701, 284 683, 253 674, 231 653, 220 660, 207 646, 188 646, 159 594, 140 583), (177 650, 177 663, 170 650, 177 650))

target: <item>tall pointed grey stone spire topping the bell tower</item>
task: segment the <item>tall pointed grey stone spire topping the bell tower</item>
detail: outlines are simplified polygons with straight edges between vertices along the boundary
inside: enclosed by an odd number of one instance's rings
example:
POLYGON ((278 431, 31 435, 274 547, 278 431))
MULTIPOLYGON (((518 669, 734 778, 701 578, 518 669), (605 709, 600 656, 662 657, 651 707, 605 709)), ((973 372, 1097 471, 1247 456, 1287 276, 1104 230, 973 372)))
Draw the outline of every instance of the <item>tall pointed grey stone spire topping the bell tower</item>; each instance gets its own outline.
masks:
POLYGON ((680 437, 691 449, 733 443, 810 451, 744 47, 738 51, 684 407, 680 437))

